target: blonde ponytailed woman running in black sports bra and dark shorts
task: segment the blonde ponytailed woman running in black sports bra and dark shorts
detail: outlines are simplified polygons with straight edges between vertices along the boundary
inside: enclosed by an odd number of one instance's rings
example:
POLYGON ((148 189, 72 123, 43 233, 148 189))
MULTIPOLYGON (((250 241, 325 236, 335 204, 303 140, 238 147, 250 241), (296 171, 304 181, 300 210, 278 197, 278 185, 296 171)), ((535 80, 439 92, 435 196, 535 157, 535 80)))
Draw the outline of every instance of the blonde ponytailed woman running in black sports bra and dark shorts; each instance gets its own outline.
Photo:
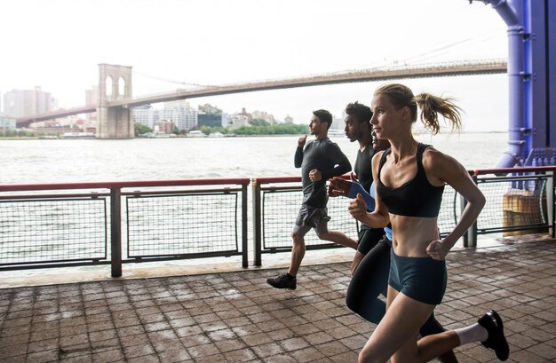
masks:
POLYGON ((368 212, 358 195, 350 202, 353 217, 372 227, 392 224, 393 241, 386 313, 363 347, 359 362, 426 362, 459 345, 481 342, 508 359, 509 348, 502 320, 494 311, 470 327, 419 338, 419 327, 441 304, 446 290, 445 258, 457 240, 473 224, 485 204, 481 191, 454 158, 413 138, 411 126, 421 121, 440 130, 441 114, 459 129, 459 108, 451 99, 428 93, 417 96, 402 84, 385 84, 375 91, 371 123, 377 138, 391 148, 372 160, 376 183, 375 210, 368 212), (440 239, 437 226, 444 185, 451 185, 467 204, 454 230, 440 239))

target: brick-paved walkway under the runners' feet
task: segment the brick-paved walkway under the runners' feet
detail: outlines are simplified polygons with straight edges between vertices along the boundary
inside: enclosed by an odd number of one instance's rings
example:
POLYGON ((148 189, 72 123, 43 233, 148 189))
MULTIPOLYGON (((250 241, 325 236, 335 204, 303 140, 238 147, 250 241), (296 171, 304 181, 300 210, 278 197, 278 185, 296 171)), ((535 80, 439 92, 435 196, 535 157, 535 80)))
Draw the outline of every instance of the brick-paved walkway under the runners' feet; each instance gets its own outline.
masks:
MULTIPOLYGON (((512 362, 556 361, 556 242, 453 251, 436 309, 445 327, 488 309, 512 362)), ((346 308, 349 264, 304 266, 298 289, 274 270, 0 289, 2 362, 356 362, 374 326, 346 308)), ((460 362, 497 361, 479 343, 460 362)))

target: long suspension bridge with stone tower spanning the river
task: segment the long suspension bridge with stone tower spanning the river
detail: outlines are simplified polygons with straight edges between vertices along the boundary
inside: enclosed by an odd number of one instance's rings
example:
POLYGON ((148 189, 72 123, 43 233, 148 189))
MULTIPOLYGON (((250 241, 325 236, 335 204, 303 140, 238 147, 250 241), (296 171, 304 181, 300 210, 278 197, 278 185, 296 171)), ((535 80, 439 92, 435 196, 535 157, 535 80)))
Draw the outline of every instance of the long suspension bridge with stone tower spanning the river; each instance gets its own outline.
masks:
POLYGON ((33 122, 52 120, 73 114, 98 113, 99 138, 132 137, 131 109, 141 105, 169 102, 178 99, 195 99, 250 91, 269 91, 335 83, 361 83, 408 78, 441 77, 455 75, 486 75, 506 73, 504 59, 486 59, 433 63, 425 65, 373 67, 318 75, 271 79, 246 83, 194 86, 138 98, 132 97, 132 67, 99 64, 99 102, 79 107, 60 108, 44 114, 32 114, 16 119, 18 127, 33 122), (111 81, 107 83, 107 80, 111 81), (123 83, 123 84, 120 84, 123 83))

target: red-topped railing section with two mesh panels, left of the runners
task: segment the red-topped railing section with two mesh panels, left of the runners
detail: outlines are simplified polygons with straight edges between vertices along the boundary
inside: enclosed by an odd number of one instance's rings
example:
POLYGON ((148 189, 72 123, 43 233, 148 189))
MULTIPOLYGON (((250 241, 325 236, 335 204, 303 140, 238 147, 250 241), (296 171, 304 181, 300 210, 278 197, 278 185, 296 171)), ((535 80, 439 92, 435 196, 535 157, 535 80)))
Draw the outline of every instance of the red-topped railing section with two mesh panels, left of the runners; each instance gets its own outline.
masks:
POLYGON ((0 270, 111 264, 119 277, 123 263, 209 256, 247 267, 249 183, 0 185, 0 270))

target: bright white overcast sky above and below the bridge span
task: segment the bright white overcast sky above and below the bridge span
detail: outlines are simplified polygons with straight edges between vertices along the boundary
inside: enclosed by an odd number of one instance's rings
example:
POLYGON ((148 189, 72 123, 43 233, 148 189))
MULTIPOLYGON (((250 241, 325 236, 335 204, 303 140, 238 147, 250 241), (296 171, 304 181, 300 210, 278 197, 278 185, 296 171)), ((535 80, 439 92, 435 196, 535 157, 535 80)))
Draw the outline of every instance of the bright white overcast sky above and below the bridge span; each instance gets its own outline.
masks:
MULTIPOLYGON (((139 96, 184 87, 179 82, 239 83, 395 62, 507 57, 504 21, 490 6, 468 0, 3 0, 0 35, 0 92, 40 85, 60 107, 84 104, 84 90, 98 83, 99 63, 132 66, 139 96)), ((405 83, 416 92, 460 99, 468 130, 493 117, 503 120, 494 129, 505 130, 505 75, 405 83)), ((305 122, 316 108, 339 117, 347 102, 369 103, 377 84, 190 102, 305 122)))

